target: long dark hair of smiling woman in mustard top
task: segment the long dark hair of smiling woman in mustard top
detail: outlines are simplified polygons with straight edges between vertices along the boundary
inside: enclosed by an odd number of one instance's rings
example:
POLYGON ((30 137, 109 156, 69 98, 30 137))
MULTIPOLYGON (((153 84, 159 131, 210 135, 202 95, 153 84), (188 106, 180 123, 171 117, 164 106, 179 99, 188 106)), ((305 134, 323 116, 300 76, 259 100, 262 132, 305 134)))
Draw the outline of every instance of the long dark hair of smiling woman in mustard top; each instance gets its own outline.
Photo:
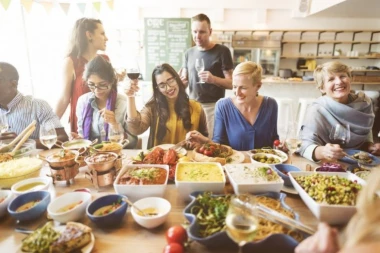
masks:
POLYGON ((162 74, 163 72, 168 72, 171 74, 177 84, 178 84, 178 97, 175 102, 174 110, 178 118, 182 119, 183 126, 186 130, 191 128, 191 112, 190 112, 190 103, 189 96, 185 91, 185 86, 181 81, 178 73, 167 63, 158 65, 154 68, 152 72, 152 86, 153 86, 153 97, 149 100, 147 105, 156 107, 157 116, 159 118, 158 129, 157 129, 157 140, 162 141, 166 135, 166 131, 169 129, 166 128, 166 122, 169 119, 169 105, 166 100, 165 95, 163 95, 157 85, 156 76, 162 74))

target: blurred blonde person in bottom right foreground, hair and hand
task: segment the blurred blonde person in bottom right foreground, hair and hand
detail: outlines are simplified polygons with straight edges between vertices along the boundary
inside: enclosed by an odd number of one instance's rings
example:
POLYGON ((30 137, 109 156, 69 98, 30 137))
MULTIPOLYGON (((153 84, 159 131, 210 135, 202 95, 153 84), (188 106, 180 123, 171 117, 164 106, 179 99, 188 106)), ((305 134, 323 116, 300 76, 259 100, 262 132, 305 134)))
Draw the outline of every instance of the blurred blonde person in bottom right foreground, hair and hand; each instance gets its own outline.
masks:
POLYGON ((367 185, 361 190, 356 204, 357 213, 351 218, 339 242, 339 233, 325 223, 296 248, 296 253, 377 253, 380 249, 380 170, 372 170, 367 185))

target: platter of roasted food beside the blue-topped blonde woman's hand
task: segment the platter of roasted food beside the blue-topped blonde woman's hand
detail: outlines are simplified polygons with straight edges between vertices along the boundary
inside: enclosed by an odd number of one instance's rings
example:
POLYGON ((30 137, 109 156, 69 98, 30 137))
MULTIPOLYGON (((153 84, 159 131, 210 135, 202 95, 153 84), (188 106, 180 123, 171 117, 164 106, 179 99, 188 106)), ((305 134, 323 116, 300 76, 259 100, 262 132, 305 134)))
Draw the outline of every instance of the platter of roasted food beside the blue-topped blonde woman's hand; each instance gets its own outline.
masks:
POLYGON ((225 165, 227 163, 242 163, 245 156, 227 145, 207 143, 193 150, 193 159, 196 162, 218 162, 225 165))

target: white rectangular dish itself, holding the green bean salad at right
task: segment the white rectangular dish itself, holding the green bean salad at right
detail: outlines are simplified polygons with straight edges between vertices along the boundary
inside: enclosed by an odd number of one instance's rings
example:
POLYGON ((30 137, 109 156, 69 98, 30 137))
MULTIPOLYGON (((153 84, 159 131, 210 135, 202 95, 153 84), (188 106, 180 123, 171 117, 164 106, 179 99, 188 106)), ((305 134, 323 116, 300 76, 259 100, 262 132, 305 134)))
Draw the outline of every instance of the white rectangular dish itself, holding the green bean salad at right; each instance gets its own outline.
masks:
MULTIPOLYGON (((327 222, 328 224, 345 224, 350 218, 355 214, 356 207, 355 206, 343 206, 343 205, 329 205, 316 202, 306 191, 297 183, 294 177, 298 176, 309 176, 316 172, 313 171, 291 171, 289 172, 290 180, 294 188, 298 191, 301 196, 303 202, 307 205, 310 211, 314 214, 314 216, 323 222, 327 222)), ((347 178, 351 181, 356 180, 359 184, 365 185, 365 181, 358 176, 352 173, 346 172, 317 172, 318 174, 333 176, 337 175, 340 178, 347 178)))

